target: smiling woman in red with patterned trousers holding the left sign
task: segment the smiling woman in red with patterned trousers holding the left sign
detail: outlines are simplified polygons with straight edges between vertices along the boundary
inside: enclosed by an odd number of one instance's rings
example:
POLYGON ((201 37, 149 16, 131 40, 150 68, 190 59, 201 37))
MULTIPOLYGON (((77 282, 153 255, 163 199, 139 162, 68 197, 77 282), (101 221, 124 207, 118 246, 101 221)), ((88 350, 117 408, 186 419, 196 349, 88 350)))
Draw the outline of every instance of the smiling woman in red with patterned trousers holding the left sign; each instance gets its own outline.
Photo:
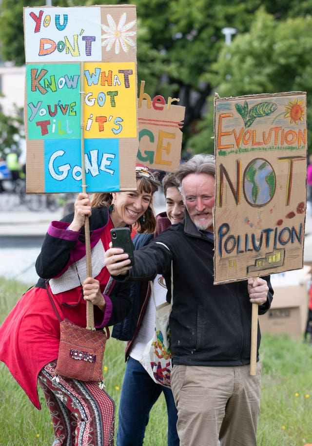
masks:
POLYGON ((127 316, 130 287, 112 281, 104 252, 112 228, 131 228, 139 220, 142 232, 155 231, 153 194, 159 182, 142 166, 136 168, 136 178, 137 191, 95 193, 92 202, 87 193, 79 193, 75 211, 50 224, 36 261, 39 281, 0 327, 0 361, 38 409, 39 382, 51 412, 55 445, 114 444, 115 403, 111 397, 97 382, 56 377, 59 320, 48 291, 61 317, 81 327, 86 326, 86 300, 94 305, 98 329, 127 316), (94 275, 87 278, 85 217, 89 217, 94 275))

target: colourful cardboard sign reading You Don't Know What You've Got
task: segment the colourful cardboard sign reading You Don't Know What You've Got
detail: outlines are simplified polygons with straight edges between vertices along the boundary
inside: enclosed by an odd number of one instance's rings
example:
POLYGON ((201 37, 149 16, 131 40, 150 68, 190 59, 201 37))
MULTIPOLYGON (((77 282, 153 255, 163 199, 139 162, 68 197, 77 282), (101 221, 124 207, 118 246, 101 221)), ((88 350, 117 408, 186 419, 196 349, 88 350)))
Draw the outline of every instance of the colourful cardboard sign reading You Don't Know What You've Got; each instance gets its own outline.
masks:
POLYGON ((24 8, 27 192, 136 189, 136 7, 24 8), (131 169, 133 166, 133 169, 131 169))

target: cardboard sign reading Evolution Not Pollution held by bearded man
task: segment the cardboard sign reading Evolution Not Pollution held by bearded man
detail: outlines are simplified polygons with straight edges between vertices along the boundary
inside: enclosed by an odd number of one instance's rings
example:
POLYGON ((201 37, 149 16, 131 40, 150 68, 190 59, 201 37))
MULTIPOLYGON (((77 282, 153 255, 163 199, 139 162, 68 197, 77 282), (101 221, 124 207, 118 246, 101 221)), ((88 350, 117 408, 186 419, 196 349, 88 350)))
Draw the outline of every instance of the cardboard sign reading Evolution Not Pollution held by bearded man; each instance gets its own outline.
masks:
POLYGON ((215 97, 215 283, 303 267, 306 102, 215 97))

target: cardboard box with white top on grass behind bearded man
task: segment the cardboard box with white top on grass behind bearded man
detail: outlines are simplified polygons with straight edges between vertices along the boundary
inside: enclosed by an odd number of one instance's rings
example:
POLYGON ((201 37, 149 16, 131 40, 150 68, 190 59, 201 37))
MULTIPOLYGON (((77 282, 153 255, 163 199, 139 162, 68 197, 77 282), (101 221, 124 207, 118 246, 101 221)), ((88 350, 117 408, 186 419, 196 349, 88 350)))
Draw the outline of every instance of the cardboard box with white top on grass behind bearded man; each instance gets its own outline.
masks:
POLYGON ((302 338, 306 329, 309 303, 307 277, 303 273, 305 271, 299 270, 282 273, 281 277, 277 278, 273 276, 280 275, 272 276, 273 302, 270 310, 265 315, 259 316, 262 334, 285 334, 302 338), (297 280, 293 280, 294 275, 297 276, 297 280))

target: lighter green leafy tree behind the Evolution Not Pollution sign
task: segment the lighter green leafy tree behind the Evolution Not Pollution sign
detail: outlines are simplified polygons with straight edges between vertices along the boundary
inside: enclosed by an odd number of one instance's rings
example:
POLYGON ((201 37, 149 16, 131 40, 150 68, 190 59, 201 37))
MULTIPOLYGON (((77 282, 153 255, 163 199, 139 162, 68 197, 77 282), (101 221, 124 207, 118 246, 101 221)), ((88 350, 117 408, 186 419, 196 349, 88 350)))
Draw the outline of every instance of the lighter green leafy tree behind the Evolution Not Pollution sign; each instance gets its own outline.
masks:
MULTIPOLYGON (((224 47, 217 61, 206 73, 220 97, 259 93, 306 91, 312 94, 312 16, 276 21, 261 7, 251 22, 251 30, 238 34, 230 46, 224 47)), ((190 140, 195 151, 203 144, 214 150, 213 94, 208 111, 200 123, 200 133, 190 140)), ((312 106, 307 106, 308 122, 312 106)), ((312 130, 308 127, 308 140, 312 130)))

